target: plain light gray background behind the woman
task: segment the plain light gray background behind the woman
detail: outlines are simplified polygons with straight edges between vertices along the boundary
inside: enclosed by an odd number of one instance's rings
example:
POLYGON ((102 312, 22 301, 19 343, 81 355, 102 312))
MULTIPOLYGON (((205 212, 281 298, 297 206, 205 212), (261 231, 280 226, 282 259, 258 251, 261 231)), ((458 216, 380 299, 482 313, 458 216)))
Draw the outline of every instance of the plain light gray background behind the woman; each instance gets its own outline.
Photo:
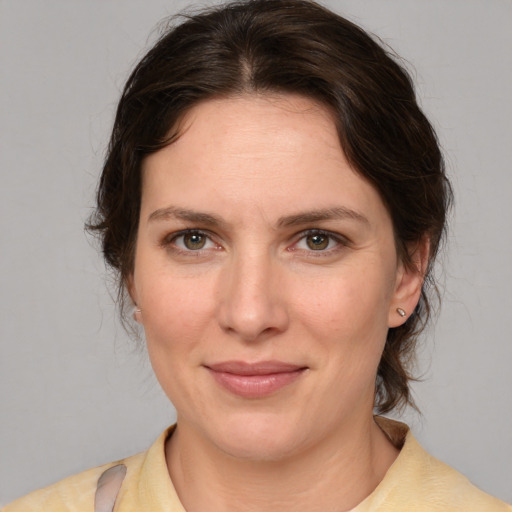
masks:
MULTIPOLYGON (((457 194, 423 416, 406 419, 512 501, 512 2, 325 3, 412 63, 457 194)), ((0 504, 145 449, 173 420, 83 222, 127 73, 186 5, 0 0, 0 504)))

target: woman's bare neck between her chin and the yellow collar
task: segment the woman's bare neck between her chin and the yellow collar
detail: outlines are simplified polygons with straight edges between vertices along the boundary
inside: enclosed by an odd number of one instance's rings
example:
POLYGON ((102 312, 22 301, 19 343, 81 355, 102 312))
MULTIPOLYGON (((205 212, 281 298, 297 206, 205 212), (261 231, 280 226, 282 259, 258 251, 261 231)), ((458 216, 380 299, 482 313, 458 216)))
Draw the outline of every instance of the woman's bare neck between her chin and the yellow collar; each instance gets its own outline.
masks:
POLYGON ((371 415, 275 461, 235 458, 180 427, 166 458, 187 512, 347 511, 377 487, 398 455, 371 415))

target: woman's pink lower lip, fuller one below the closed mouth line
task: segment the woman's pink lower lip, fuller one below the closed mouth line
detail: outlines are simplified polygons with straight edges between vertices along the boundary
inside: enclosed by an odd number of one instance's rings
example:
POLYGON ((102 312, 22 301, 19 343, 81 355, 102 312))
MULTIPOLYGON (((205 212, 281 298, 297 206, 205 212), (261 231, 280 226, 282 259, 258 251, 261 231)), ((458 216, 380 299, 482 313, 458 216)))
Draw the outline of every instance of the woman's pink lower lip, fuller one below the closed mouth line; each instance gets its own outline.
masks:
POLYGON ((244 398, 263 398, 295 382, 304 369, 268 375, 239 375, 211 369, 210 372, 222 387, 235 395, 244 398))

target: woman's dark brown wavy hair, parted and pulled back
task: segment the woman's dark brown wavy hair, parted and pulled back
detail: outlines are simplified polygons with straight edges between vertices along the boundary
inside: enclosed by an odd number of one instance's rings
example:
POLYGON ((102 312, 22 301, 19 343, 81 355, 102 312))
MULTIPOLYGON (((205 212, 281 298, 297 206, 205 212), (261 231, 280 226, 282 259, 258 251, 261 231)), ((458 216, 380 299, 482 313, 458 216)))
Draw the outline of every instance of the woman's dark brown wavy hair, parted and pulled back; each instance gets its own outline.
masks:
POLYGON ((349 162, 389 209, 399 257, 412 265, 407 247, 430 239, 420 302, 389 330, 376 382, 379 412, 412 404, 409 363, 430 316, 427 292, 451 189, 408 73, 361 28, 312 1, 231 2, 185 16, 132 72, 88 226, 117 272, 121 304, 134 265, 142 160, 179 136, 179 120, 198 102, 254 93, 301 94, 326 106, 349 162))

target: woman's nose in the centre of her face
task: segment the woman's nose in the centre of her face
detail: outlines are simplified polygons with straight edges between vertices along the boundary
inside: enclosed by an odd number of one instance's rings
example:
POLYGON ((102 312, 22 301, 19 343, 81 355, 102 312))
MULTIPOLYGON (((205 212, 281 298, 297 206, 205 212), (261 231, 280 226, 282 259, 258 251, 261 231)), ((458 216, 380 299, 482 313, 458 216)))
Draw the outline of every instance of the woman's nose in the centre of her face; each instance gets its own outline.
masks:
POLYGON ((218 321, 246 342, 284 332, 289 315, 282 269, 265 255, 234 258, 220 276, 218 321))

